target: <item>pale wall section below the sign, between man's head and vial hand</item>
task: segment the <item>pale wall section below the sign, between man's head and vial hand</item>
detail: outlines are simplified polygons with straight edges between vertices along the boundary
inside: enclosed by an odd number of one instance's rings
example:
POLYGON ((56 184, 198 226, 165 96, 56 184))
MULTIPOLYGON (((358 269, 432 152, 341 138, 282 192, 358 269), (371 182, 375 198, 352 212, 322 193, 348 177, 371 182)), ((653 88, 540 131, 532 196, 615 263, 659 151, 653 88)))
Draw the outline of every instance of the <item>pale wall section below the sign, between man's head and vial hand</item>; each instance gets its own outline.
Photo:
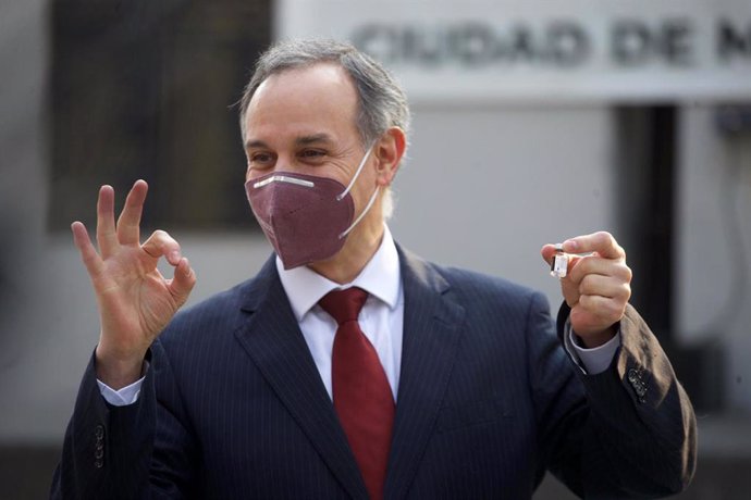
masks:
POLYGON ((613 230, 604 107, 417 107, 392 228, 426 258, 559 291, 543 243, 613 230))

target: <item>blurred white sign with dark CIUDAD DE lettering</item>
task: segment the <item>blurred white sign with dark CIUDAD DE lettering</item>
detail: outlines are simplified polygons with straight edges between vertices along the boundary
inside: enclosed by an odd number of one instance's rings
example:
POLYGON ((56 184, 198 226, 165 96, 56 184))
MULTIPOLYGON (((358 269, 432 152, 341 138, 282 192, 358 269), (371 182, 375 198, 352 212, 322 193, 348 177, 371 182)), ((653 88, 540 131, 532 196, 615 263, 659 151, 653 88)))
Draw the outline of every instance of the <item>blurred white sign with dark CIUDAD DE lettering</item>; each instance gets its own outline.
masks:
POLYGON ((352 41, 411 101, 751 100, 751 0, 280 0, 275 23, 352 41))

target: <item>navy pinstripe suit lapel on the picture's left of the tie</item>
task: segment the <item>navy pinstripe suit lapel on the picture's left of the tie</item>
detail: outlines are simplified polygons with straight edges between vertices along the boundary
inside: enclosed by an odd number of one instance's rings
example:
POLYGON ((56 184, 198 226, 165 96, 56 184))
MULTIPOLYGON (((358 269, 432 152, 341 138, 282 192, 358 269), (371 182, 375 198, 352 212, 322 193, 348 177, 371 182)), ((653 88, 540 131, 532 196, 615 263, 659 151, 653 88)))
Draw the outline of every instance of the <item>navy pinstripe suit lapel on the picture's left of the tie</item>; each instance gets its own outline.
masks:
POLYGON ((237 339, 346 491, 353 498, 367 498, 357 463, 292 312, 273 258, 254 280, 242 309, 250 317, 235 333, 237 339))

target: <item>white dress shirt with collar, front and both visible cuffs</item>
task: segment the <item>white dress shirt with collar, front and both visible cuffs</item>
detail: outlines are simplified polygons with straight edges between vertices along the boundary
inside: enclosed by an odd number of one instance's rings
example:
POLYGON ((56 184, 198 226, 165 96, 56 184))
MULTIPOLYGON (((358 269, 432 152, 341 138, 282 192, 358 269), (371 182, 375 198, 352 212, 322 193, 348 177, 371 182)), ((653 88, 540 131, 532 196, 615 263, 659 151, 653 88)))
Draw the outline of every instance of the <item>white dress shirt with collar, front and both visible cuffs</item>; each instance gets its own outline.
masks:
MULTIPOLYGON (((399 258, 396 245, 385 226, 381 246, 370 259, 360 274, 345 285, 338 285, 327 279, 306 266, 285 270, 282 261, 276 258, 276 270, 290 299, 295 318, 299 324, 308 349, 312 354, 318 373, 325 386, 329 397, 331 391, 331 355, 336 333, 336 322, 323 311, 318 301, 331 290, 346 289, 353 286, 368 292, 359 315, 360 328, 370 343, 376 348, 383 371, 389 379, 394 401, 399 386, 399 368, 402 366, 402 337, 404 329, 404 290, 399 258)), ((566 323, 565 347, 568 353, 579 363, 579 367, 591 375, 604 372, 610 366, 616 350, 620 346, 619 334, 595 349, 583 349, 574 340, 574 333, 566 323)), ((148 365, 144 367, 144 373, 148 365)), ((114 390, 104 383, 97 380, 99 390, 110 404, 122 407, 132 404, 138 399, 144 378, 114 390)))

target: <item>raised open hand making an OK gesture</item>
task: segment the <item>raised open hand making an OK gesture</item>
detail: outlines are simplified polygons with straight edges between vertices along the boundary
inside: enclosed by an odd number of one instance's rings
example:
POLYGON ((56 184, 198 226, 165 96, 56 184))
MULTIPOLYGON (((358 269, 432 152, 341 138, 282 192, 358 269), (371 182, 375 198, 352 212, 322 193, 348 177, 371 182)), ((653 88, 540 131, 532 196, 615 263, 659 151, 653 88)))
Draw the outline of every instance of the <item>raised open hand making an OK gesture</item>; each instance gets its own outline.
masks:
POLYGON ((147 191, 144 180, 133 185, 115 224, 114 190, 101 187, 97 203, 98 253, 84 224, 71 225, 99 305, 97 378, 115 390, 140 378, 146 351, 196 284, 196 274, 170 235, 156 230, 140 243, 140 215, 147 191), (157 268, 161 257, 174 266, 172 279, 165 279, 157 268))

